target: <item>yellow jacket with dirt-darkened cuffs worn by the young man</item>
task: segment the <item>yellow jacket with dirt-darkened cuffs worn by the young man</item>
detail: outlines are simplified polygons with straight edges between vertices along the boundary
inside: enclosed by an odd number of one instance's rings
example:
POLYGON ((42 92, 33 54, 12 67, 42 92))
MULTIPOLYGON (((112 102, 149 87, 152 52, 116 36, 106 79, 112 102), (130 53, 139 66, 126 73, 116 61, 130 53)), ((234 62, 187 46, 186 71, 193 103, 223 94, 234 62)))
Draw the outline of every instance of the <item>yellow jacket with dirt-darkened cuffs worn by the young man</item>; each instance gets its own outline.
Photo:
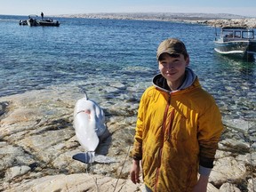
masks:
POLYGON ((199 162, 212 168, 222 129, 220 110, 197 77, 177 92, 148 87, 140 100, 132 150, 132 157, 142 160, 148 188, 191 191, 199 162))

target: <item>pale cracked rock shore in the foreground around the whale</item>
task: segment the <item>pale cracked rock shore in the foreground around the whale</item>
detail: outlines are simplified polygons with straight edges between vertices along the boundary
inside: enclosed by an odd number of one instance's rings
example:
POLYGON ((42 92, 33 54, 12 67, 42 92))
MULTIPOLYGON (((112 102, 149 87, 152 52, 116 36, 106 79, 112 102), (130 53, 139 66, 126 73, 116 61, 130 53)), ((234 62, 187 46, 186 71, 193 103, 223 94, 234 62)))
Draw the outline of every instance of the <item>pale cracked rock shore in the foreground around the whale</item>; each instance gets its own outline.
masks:
MULTIPOLYGON (((128 154, 139 100, 127 92, 136 89, 118 82, 86 87, 106 113, 111 133, 97 153, 116 158, 113 164, 72 159, 83 151, 73 128, 73 108, 83 97, 79 85, 0 98, 0 191, 144 191, 143 182, 134 185, 129 180, 132 159, 128 154), (100 93, 95 93, 95 87, 100 93)), ((223 123, 226 129, 208 192, 255 191, 256 123, 243 119, 223 119, 223 123)))

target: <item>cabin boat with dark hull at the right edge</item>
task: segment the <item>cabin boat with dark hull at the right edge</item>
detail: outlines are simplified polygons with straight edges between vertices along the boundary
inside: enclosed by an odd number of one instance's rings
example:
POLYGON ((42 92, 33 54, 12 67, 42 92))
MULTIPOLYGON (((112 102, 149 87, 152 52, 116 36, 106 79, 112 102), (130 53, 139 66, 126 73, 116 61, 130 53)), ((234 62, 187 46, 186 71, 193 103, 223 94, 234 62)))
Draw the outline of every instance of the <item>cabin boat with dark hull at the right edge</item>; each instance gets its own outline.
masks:
POLYGON ((255 60, 256 40, 253 28, 223 27, 214 40, 214 50, 222 55, 255 60))

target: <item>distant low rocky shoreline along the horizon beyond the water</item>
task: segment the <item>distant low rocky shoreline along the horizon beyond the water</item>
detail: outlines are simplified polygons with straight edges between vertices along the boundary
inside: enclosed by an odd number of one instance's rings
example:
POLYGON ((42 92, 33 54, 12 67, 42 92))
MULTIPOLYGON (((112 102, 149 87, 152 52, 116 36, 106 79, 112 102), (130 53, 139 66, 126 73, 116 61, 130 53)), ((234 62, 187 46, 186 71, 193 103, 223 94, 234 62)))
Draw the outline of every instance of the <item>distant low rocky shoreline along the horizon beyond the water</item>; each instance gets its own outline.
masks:
POLYGON ((132 12, 132 13, 87 13, 87 14, 63 14, 58 17, 87 18, 105 20, 163 20, 174 22, 188 22, 209 26, 239 26, 256 28, 256 18, 244 17, 234 14, 213 13, 172 13, 172 12, 132 12))

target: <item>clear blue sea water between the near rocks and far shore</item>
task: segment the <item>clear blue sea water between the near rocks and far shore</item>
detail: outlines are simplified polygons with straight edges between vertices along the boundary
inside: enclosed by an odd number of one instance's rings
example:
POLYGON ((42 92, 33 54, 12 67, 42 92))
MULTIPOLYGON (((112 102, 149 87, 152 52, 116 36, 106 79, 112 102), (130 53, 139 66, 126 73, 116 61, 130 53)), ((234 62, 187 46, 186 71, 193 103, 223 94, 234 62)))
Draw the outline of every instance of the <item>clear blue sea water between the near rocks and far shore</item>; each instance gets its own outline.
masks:
POLYGON ((255 123, 256 63, 215 52, 213 40, 220 28, 163 20, 83 18, 53 18, 60 27, 19 25, 27 19, 0 15, 0 97, 93 80, 137 87, 140 100, 158 73, 158 44, 176 37, 187 45, 190 68, 222 115, 255 123))

